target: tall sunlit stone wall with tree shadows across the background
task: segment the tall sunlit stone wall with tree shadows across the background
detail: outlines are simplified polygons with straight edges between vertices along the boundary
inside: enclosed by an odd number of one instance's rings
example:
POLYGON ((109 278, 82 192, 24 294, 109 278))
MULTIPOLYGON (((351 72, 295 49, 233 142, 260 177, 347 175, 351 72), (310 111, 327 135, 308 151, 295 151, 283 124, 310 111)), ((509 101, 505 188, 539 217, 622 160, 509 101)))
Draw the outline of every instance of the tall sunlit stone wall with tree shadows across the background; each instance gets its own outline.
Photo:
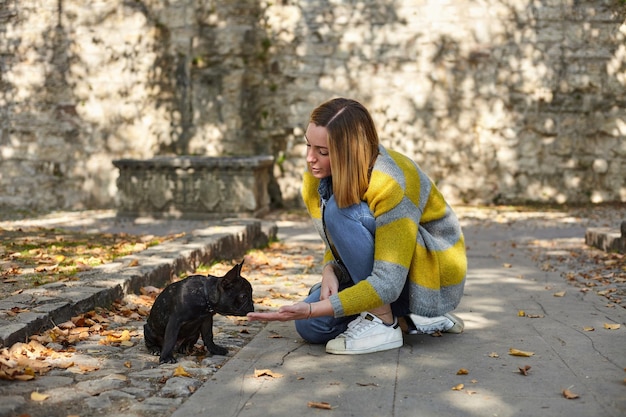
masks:
POLYGON ((621 0, 0 0, 0 207, 114 207, 112 161, 275 158, 334 96, 452 202, 626 202, 621 0))

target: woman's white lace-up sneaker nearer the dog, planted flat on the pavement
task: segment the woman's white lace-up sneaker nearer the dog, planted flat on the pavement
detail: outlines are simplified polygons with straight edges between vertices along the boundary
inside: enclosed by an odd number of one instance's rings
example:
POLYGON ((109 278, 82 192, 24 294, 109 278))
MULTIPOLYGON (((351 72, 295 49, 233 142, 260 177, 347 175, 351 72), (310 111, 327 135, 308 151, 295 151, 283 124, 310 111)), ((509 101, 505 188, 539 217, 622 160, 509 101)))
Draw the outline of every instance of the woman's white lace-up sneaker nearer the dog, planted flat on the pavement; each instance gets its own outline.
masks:
POLYGON ((396 319, 392 325, 367 311, 348 324, 348 329, 326 343, 326 352, 337 355, 359 355, 402 346, 402 330, 396 319))

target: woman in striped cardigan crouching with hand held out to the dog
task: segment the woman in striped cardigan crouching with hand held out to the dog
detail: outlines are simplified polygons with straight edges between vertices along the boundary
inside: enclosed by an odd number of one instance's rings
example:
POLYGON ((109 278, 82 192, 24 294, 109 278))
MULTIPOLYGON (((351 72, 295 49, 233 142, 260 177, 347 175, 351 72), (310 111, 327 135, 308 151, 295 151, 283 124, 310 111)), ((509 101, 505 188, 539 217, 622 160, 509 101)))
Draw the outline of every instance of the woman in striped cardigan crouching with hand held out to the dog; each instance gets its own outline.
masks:
POLYGON ((300 303, 251 320, 296 320, 300 336, 334 354, 402 346, 408 333, 460 333, 449 312, 463 294, 467 260, 459 222, 428 176, 378 143, 371 115, 337 98, 306 129, 302 196, 326 244, 321 285, 300 303))

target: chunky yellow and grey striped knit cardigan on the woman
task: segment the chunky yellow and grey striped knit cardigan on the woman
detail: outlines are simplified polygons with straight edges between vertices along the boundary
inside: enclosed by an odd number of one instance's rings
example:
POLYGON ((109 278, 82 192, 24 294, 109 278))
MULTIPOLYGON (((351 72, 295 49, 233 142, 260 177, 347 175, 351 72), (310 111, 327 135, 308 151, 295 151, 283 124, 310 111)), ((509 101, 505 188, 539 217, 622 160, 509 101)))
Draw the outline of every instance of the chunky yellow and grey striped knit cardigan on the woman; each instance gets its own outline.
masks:
MULTIPOLYGON (((302 197, 333 260, 322 226, 320 180, 306 172, 302 197)), ((459 221, 430 178, 408 157, 380 146, 362 196, 374 218, 374 267, 358 284, 330 297, 335 317, 395 301, 410 279, 410 310, 427 317, 452 311, 463 295, 467 258, 459 221)))

